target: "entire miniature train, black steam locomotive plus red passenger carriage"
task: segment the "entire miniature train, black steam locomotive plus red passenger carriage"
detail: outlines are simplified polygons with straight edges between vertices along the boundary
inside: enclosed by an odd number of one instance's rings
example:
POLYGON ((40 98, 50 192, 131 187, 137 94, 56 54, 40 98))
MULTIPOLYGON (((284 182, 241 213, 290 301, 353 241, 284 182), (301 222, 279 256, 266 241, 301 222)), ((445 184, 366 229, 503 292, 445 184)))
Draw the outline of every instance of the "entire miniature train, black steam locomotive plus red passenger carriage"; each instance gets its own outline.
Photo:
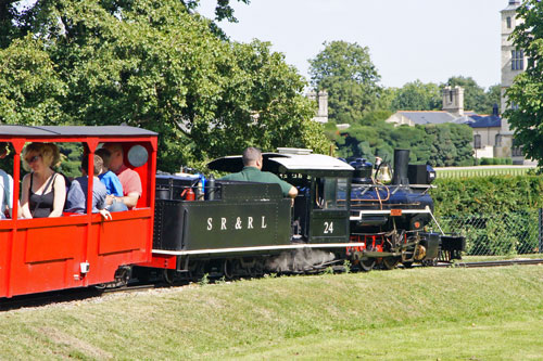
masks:
MULTIPOLYGON (((296 186, 292 203, 278 184, 156 175, 157 134, 105 127, 0 126, 0 142, 14 151, 13 178, 21 176, 26 142, 75 142, 92 165, 100 143, 123 145, 124 163, 138 172, 137 206, 113 212, 0 220, 0 297, 163 276, 194 279, 308 272, 345 261, 364 271, 458 258, 462 236, 428 232, 434 173, 408 166, 396 151, 392 184, 375 180, 371 165, 355 167, 318 154, 264 154, 263 170, 296 186), (195 196, 194 196, 195 193, 195 196)), ((87 199, 92 199, 89 167, 87 199)), ((238 171, 240 156, 209 164, 238 171)), ((14 182, 13 215, 20 207, 14 182)))

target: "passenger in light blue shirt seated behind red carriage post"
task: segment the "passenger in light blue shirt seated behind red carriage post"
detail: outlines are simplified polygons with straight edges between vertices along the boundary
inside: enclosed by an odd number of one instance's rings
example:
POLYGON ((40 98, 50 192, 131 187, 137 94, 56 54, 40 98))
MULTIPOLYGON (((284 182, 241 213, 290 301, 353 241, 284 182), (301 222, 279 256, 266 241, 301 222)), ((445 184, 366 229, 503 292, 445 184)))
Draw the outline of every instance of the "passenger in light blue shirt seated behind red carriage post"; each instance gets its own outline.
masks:
MULTIPOLYGON (((84 156, 81 160, 83 177, 72 181, 66 198, 66 211, 74 214, 87 212, 87 190, 89 186, 89 177, 87 173, 88 158, 84 156)), ((102 171, 102 158, 94 154, 94 175, 102 171)), ((111 219, 111 214, 105 209, 105 185, 100 182, 97 176, 92 181, 92 212, 100 212, 104 219, 111 219)))

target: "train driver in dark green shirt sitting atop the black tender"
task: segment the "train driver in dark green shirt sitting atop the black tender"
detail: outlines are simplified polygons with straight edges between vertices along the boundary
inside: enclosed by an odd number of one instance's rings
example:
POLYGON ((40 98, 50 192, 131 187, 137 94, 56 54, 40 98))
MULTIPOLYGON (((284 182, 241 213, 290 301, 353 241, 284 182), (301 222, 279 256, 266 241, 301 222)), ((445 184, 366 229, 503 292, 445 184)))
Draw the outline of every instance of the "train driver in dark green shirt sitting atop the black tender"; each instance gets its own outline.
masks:
POLYGON ((250 146, 243 151, 243 169, 237 173, 231 173, 220 178, 222 180, 237 180, 258 183, 277 183, 281 186, 283 196, 292 199, 298 195, 295 186, 287 183, 269 171, 262 171, 262 152, 257 147, 250 146))

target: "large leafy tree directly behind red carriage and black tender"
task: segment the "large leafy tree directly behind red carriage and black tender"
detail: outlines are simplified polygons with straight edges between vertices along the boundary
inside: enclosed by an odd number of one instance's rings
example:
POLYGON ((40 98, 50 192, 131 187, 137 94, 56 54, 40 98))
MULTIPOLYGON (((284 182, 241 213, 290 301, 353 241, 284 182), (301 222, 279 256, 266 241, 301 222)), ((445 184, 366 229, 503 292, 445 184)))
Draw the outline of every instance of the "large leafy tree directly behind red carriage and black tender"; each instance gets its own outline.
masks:
POLYGON ((62 79, 64 90, 36 94, 39 104, 61 104, 45 123, 154 130, 163 170, 247 145, 328 151, 310 120, 305 81, 283 55, 265 42, 224 41, 178 0, 51 0, 29 13, 30 39, 42 43, 43 69, 53 72, 45 83, 62 79))

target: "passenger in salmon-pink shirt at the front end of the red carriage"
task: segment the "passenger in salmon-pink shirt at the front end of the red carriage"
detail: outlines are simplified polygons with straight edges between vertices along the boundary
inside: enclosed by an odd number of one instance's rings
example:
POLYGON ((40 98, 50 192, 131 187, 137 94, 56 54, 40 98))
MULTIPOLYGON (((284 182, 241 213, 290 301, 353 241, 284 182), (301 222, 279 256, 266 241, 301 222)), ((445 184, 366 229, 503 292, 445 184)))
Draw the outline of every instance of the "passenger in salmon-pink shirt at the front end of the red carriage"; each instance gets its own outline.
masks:
MULTIPOLYGON (((104 149, 110 151, 110 170, 112 170, 121 181, 123 185, 123 196, 108 195, 105 202, 108 205, 113 203, 125 204, 128 209, 136 207, 138 199, 141 196, 141 179, 137 171, 128 168, 124 164, 124 153, 121 143, 105 143, 104 149)), ((116 209, 110 208, 110 211, 115 211, 116 209)))

